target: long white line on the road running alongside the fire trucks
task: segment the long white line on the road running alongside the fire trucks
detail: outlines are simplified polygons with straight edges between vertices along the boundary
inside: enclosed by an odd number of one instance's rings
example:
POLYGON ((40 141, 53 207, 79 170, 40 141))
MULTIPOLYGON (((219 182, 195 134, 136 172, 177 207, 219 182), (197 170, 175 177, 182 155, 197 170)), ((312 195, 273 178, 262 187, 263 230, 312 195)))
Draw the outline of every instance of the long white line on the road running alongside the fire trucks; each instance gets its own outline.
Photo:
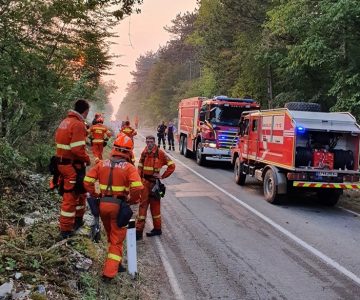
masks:
POLYGON ((173 160, 175 160, 176 162, 180 163, 183 167, 185 167, 186 169, 188 169, 189 171, 191 171, 192 173, 194 173, 195 175, 197 175, 198 177, 200 177, 201 179, 203 179, 204 181, 206 181, 207 183, 211 184, 213 187, 215 187, 216 189, 218 189, 219 191, 223 192, 225 195, 227 195, 228 197, 230 197, 231 199, 233 199, 235 202, 239 203, 240 205, 242 205, 243 207, 245 207, 247 210, 249 210, 250 212, 252 212, 253 214, 255 214, 256 216, 258 216, 259 218, 261 218, 262 220, 264 220, 266 223, 270 224, 272 227, 274 227, 275 229, 277 229, 278 231, 280 231, 282 234, 286 235, 288 238, 292 239, 293 241, 295 241, 296 243, 298 243, 300 246, 302 246, 303 248, 305 248, 306 250, 310 251, 312 254, 314 254, 315 256, 319 257, 321 260, 323 260, 325 263, 327 263, 328 265, 332 266, 333 268, 335 268, 336 270, 338 270, 340 273, 344 274, 345 276, 347 276, 348 278, 350 278, 351 280, 353 280, 354 282, 356 282, 358 285, 360 285, 360 278, 358 276, 356 276, 354 273, 352 273, 351 271, 349 271, 348 269, 346 269, 345 267, 343 267, 342 265, 340 265, 339 263, 337 263, 335 260, 333 260, 332 258, 330 258, 329 256, 325 255, 324 253, 322 253, 321 251, 315 249, 313 246, 309 245, 308 243, 306 243, 305 241, 303 241, 302 239, 298 238, 297 236, 295 236, 294 234, 292 234, 290 231, 286 230, 284 227, 280 226, 279 224, 275 223, 274 221, 272 221, 270 218, 268 218, 267 216, 265 216, 264 214, 262 214, 261 212, 257 211, 256 209, 254 209, 253 207, 251 207, 250 205, 246 204, 245 202, 243 202, 242 200, 236 198, 234 195, 230 194, 228 191, 224 190, 223 188, 221 188, 220 186, 218 186, 216 183, 212 182, 211 180, 207 179, 206 177, 204 177, 203 175, 201 175, 200 173, 196 172, 195 170, 193 170, 192 168, 190 168, 189 166, 187 166, 186 164, 184 164, 182 161, 180 161, 179 159, 175 158, 173 155, 169 154, 168 155, 170 157, 172 157, 173 160))

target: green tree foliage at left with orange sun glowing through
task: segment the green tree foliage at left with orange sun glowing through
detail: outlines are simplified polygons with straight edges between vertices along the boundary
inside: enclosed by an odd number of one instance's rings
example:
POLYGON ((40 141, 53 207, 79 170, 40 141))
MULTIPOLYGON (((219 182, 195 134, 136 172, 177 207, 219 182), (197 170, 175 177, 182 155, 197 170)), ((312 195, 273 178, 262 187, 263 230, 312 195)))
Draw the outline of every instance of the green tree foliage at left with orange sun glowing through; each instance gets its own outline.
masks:
POLYGON ((0 2, 0 138, 26 149, 48 143, 74 98, 105 103, 109 39, 141 0, 0 2))

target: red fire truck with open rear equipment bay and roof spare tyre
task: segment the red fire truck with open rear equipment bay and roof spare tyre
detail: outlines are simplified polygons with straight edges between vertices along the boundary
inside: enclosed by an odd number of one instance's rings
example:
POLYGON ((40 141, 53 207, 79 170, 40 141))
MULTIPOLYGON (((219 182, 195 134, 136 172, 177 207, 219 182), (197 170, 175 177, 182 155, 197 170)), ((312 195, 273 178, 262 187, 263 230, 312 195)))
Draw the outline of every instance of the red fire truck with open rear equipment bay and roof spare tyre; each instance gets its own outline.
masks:
POLYGON ((360 127, 350 113, 289 105, 244 112, 239 127, 231 150, 235 181, 244 185, 247 176, 262 181, 268 202, 279 203, 290 189, 306 188, 324 204, 335 205, 343 189, 360 188, 360 127))

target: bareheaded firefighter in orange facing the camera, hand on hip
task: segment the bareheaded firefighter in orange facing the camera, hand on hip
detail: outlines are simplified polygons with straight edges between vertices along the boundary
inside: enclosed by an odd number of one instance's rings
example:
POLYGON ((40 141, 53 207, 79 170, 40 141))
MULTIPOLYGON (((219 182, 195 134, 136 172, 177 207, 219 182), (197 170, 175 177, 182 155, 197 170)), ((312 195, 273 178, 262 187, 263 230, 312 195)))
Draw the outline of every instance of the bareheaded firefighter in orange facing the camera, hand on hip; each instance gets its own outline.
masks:
POLYGON ((138 172, 141 176, 144 190, 141 195, 139 213, 136 220, 136 239, 141 240, 145 227, 147 209, 150 205, 150 211, 153 219, 154 228, 147 232, 147 236, 161 235, 161 214, 160 199, 152 192, 156 179, 169 177, 175 170, 174 162, 155 145, 155 137, 150 135, 146 137, 146 147, 141 153, 138 164, 138 172), (167 166, 165 172, 160 175, 163 166, 167 166))

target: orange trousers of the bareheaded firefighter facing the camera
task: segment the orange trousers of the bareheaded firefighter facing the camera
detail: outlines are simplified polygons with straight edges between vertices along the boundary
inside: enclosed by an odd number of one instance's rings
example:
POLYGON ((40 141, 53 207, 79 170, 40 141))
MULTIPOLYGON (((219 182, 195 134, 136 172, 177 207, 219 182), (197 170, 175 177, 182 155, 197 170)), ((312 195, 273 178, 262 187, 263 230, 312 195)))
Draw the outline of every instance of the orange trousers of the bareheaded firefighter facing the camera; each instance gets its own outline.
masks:
POLYGON ((136 219, 136 231, 143 232, 149 205, 154 229, 161 229, 160 200, 156 199, 151 193, 155 183, 146 179, 142 179, 142 183, 144 185, 144 189, 141 194, 139 213, 136 219))

